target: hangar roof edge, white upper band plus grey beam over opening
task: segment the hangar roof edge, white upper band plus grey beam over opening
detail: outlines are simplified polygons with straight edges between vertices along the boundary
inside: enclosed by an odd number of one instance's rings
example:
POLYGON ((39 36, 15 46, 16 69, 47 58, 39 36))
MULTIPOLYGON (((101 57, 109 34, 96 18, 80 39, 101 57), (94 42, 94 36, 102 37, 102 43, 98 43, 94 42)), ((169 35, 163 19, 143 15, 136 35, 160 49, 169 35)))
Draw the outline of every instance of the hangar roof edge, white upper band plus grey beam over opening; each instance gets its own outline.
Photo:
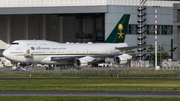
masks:
POLYGON ((173 7, 173 3, 180 3, 180 0, 144 1, 146 0, 0 0, 0 14, 106 13, 109 5, 173 7))

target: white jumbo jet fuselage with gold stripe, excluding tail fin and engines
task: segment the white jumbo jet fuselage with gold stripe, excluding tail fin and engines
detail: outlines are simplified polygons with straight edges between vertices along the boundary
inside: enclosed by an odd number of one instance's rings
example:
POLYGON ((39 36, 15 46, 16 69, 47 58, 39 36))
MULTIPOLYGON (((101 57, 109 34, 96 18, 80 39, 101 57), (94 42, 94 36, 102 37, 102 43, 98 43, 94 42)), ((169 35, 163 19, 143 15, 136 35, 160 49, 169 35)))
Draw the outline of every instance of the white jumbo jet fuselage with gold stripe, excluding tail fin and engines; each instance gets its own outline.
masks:
POLYGON ((20 63, 26 63, 28 55, 35 63, 68 64, 70 63, 68 61, 51 61, 51 57, 113 54, 120 52, 115 47, 126 46, 126 43, 58 43, 46 40, 17 40, 5 49, 3 55, 13 62, 20 63))

